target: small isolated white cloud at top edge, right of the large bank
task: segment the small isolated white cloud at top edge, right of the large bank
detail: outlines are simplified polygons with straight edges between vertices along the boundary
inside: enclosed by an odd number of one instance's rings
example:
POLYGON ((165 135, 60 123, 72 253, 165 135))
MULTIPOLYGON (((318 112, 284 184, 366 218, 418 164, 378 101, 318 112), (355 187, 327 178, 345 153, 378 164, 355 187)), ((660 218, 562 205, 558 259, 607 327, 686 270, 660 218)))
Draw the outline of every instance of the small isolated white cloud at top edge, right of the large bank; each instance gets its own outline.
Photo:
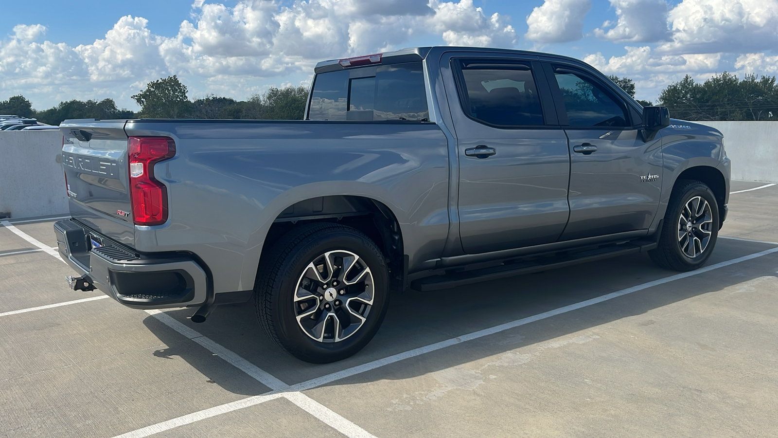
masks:
POLYGON ((524 37, 541 44, 580 40, 590 9, 590 0, 545 0, 527 16, 524 37))

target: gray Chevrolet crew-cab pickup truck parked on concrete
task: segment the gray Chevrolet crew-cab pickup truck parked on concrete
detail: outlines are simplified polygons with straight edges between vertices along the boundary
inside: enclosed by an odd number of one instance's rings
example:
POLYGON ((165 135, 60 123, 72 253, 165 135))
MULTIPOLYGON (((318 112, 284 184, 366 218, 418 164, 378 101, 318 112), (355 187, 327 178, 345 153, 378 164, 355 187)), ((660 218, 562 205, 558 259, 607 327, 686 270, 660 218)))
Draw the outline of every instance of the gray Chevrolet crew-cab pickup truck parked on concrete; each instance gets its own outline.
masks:
POLYGON ((320 62, 302 121, 68 120, 59 252, 135 309, 254 298, 308 362, 353 355, 390 291, 647 251, 706 262, 727 214, 716 129, 573 58, 412 48, 320 62))

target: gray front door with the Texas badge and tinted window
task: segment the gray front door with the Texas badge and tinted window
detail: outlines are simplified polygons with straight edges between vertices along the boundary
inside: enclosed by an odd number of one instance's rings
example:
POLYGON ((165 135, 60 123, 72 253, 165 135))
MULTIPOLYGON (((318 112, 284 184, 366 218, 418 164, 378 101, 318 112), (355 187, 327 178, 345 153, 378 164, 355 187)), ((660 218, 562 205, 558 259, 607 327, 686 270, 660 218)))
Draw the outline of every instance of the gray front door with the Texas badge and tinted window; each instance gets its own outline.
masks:
POLYGON ((647 230, 661 195, 661 139, 643 142, 637 111, 608 83, 546 68, 570 152, 570 218, 561 240, 647 230))

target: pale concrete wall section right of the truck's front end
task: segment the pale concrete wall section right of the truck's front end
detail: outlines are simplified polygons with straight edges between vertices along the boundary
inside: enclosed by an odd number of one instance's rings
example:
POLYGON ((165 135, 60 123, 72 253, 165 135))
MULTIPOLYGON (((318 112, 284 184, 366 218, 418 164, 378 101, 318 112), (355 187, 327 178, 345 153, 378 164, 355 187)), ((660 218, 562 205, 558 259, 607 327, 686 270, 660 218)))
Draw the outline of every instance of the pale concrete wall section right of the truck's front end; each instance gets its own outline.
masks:
POLYGON ((778 182, 778 122, 697 122, 724 134, 732 179, 778 182))

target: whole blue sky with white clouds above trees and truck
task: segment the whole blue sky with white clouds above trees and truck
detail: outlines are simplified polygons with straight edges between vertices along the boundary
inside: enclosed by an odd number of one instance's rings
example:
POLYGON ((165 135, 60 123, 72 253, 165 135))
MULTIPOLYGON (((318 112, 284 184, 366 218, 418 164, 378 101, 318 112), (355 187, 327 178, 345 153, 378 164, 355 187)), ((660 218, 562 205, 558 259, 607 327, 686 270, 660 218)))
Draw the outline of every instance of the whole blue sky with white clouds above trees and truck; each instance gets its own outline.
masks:
POLYGON ((440 44, 570 55, 656 101, 685 74, 778 74, 778 0, 37 0, 0 15, 0 100, 137 110, 172 74, 190 97, 246 99, 321 59, 440 44))

